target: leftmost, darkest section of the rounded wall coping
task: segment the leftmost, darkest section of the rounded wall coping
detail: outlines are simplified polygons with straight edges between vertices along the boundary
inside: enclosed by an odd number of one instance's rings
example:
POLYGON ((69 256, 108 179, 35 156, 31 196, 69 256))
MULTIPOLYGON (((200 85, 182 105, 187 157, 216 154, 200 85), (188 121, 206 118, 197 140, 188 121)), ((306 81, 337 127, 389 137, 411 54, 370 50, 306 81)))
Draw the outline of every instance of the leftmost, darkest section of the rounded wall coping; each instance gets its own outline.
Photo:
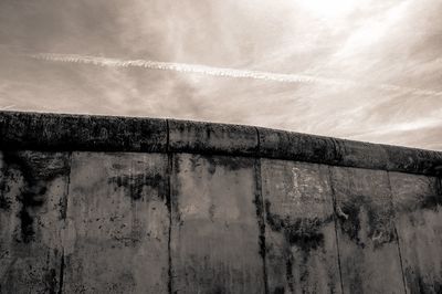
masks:
POLYGON ((1 149, 166 153, 166 119, 0 113, 1 149))

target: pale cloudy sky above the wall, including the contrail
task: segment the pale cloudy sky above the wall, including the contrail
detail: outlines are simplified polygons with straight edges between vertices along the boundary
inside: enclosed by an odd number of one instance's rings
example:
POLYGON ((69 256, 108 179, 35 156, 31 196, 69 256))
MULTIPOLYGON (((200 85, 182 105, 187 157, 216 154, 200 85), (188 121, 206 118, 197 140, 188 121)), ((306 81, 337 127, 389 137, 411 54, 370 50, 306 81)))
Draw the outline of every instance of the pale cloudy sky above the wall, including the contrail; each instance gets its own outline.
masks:
POLYGON ((0 0, 0 109, 442 150, 441 0, 0 0))

